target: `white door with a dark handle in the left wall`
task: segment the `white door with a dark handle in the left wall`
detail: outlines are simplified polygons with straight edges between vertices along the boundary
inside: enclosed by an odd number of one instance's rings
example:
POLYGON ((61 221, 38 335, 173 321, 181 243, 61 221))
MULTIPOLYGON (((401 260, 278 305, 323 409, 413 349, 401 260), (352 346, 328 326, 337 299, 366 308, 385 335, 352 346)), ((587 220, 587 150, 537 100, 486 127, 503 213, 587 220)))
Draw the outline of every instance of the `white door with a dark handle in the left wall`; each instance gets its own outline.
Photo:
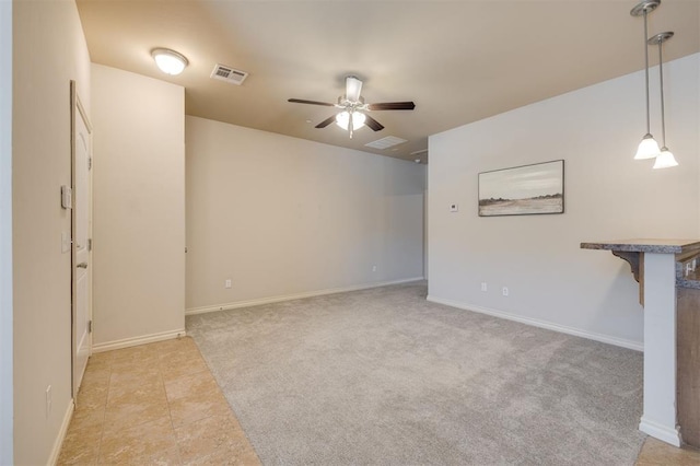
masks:
POLYGON ((71 81, 72 145, 73 145, 73 305, 72 305, 72 366, 73 399, 78 395, 88 358, 91 352, 91 130, 90 123, 71 81))

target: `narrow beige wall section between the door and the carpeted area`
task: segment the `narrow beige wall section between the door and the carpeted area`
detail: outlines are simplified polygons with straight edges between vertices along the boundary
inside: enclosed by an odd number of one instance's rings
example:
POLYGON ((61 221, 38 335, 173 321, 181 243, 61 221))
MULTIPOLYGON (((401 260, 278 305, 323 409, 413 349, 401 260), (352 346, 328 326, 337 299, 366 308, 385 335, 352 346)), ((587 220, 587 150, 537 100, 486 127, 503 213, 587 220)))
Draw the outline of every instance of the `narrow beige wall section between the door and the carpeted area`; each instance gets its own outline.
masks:
POLYGON ((185 92, 92 67, 95 349, 185 327, 185 92))

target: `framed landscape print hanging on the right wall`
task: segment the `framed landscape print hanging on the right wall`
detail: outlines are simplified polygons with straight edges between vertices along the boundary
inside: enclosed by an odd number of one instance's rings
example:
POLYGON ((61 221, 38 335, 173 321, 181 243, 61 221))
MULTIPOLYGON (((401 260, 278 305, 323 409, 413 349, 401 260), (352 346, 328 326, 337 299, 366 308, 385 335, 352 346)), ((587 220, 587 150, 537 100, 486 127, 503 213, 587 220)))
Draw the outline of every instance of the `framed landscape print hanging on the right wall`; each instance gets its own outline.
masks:
POLYGON ((563 160, 479 173, 479 217, 563 211, 563 160))

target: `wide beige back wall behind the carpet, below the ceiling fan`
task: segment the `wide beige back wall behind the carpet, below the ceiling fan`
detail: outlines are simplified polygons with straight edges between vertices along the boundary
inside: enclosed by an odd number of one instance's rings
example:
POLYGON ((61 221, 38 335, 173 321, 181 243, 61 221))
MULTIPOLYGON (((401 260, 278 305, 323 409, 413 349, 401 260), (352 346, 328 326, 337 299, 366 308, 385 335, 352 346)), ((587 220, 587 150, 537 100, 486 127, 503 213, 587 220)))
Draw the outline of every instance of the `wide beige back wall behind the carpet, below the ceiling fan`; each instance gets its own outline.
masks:
POLYGON ((197 117, 186 136, 188 311, 423 276, 424 165, 197 117))

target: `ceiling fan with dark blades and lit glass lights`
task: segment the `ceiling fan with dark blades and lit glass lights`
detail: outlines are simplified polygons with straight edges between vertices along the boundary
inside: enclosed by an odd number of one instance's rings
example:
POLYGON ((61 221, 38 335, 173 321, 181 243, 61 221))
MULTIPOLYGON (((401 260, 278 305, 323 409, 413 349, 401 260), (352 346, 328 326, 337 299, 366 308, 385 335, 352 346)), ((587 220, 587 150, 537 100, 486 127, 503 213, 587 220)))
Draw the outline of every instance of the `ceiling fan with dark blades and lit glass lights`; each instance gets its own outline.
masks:
POLYGON ((346 78, 346 93, 338 97, 337 104, 329 104, 327 102, 306 101, 303 98, 290 98, 288 102, 295 104, 311 104, 311 105, 324 105, 327 107, 340 108, 342 112, 326 118, 316 125, 316 128, 325 128, 331 123, 336 124, 342 129, 352 132, 355 129, 360 129, 363 126, 369 126, 373 131, 381 131, 384 129, 381 123, 366 115, 366 112, 375 110, 412 110, 416 108, 416 104, 412 102, 385 102, 382 104, 365 104, 364 98, 360 95, 362 91, 362 81, 357 77, 349 75, 346 78))

